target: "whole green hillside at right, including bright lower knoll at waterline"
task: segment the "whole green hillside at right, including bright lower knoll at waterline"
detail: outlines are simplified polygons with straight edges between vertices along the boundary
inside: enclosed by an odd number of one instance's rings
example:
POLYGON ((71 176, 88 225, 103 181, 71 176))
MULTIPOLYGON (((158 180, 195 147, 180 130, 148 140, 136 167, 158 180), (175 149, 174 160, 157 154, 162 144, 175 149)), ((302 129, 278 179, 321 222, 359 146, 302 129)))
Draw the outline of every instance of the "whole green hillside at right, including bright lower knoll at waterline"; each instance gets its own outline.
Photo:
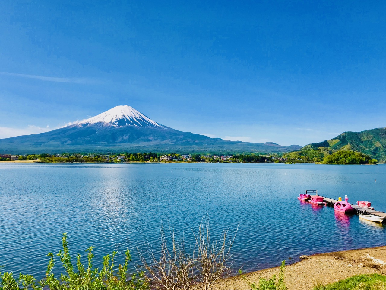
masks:
POLYGON ((283 155, 283 158, 288 159, 288 162, 335 164, 373 163, 371 159, 385 162, 386 128, 376 128, 361 132, 344 132, 334 139, 312 143, 300 150, 289 152, 283 155), (358 152, 361 155, 355 154, 358 152), (330 157, 330 155, 334 156, 330 157))

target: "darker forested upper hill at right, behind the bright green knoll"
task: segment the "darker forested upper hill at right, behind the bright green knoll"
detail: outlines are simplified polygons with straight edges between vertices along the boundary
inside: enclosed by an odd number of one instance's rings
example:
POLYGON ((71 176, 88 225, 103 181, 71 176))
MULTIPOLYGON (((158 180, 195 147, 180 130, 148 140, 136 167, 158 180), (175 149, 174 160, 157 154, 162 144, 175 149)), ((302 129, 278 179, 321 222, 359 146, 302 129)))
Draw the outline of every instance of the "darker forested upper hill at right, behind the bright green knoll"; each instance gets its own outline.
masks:
POLYGON ((386 161, 386 128, 361 132, 344 132, 332 140, 310 144, 313 148, 327 147, 330 150, 353 150, 386 161))

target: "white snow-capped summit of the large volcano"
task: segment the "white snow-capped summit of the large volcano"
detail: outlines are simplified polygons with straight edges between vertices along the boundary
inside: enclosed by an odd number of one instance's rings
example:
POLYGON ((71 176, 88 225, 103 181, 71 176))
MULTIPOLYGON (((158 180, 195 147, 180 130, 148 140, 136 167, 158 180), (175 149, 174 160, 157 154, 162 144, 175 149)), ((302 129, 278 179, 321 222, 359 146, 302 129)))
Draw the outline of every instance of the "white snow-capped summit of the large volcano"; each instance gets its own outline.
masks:
POLYGON ((91 117, 84 121, 79 122, 78 126, 88 126, 92 124, 100 124, 102 126, 121 127, 126 125, 139 126, 139 127, 161 127, 164 126, 158 124, 150 118, 147 118, 144 114, 137 111, 133 107, 124 105, 116 106, 112 109, 99 114, 95 117, 91 117))

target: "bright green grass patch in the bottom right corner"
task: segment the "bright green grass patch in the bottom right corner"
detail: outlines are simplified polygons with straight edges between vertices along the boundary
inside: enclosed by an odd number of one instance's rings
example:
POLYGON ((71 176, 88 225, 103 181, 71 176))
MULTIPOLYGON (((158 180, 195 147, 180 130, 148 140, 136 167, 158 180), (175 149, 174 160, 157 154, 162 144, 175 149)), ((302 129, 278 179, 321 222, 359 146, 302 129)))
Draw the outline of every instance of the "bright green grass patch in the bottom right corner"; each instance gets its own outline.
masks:
POLYGON ((356 275, 328 285, 317 285, 313 290, 386 290, 386 275, 356 275))

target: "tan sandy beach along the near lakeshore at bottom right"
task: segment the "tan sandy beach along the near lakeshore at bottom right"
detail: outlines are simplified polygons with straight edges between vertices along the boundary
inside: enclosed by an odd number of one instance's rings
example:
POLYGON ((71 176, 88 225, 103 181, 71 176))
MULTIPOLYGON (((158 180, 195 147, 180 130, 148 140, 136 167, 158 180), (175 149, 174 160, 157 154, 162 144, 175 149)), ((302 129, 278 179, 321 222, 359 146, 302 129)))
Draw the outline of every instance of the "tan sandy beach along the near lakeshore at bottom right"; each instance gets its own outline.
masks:
MULTIPOLYGON (((329 284, 353 275, 379 273, 386 275, 386 246, 330 252, 304 256, 300 262, 286 266, 285 283, 289 290, 310 290, 318 283, 329 284), (363 266, 362 266, 363 265, 363 266)), ((269 278, 279 273, 279 268, 269 268, 247 273, 247 280, 258 282, 259 277, 269 278)), ((218 290, 250 289, 240 276, 222 280, 218 290)))

